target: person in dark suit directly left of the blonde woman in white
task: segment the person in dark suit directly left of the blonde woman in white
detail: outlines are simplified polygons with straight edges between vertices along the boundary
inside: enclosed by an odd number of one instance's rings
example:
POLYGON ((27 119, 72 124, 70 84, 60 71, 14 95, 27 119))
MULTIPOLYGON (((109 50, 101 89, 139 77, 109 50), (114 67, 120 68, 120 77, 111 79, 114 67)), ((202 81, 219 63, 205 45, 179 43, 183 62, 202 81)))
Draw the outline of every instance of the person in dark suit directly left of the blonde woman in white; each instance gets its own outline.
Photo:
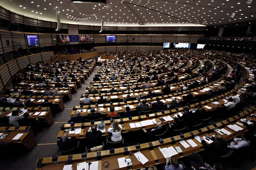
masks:
POLYGON ((87 139, 87 147, 95 147, 102 145, 102 132, 97 130, 96 125, 92 125, 91 129, 87 131, 85 137, 87 139))

